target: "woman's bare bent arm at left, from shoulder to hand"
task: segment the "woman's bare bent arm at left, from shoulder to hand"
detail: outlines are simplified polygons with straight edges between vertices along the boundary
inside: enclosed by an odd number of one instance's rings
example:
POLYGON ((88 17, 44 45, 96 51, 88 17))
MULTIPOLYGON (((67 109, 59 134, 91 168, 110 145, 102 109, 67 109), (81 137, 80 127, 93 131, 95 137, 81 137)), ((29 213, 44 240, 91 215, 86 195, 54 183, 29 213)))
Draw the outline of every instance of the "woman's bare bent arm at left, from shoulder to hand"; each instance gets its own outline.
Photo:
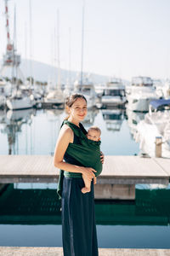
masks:
POLYGON ((69 143, 73 142, 73 137, 74 134, 71 128, 67 125, 63 125, 59 132, 59 137, 55 146, 54 166, 66 172, 83 172, 83 174, 89 179, 92 179, 95 177, 94 172, 96 172, 93 168, 71 165, 63 160, 66 148, 68 147, 69 143))

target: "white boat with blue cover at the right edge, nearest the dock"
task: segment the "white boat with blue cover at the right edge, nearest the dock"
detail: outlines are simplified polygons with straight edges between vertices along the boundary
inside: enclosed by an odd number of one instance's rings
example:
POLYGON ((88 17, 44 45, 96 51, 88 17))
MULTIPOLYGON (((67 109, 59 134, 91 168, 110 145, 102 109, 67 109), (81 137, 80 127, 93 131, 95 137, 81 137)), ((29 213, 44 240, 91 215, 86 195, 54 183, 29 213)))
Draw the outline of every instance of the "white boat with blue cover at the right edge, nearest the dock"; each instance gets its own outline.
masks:
POLYGON ((160 99, 150 102, 150 112, 146 113, 144 120, 137 125, 134 138, 144 154, 154 157, 156 137, 162 139, 161 156, 170 158, 170 100, 160 99), (154 112, 151 111, 153 107, 154 112))

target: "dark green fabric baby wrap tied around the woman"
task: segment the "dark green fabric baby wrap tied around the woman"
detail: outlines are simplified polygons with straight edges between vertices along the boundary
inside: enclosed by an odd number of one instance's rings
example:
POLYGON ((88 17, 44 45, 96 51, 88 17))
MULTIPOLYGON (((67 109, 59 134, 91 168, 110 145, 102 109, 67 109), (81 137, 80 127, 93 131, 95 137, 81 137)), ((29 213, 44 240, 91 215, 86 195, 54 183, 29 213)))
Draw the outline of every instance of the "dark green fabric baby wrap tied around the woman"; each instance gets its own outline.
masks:
MULTIPOLYGON (((71 156, 72 159, 77 160, 81 166, 84 167, 92 167, 95 171, 95 176, 99 176, 102 172, 102 163, 100 160, 100 141, 95 142, 89 140, 86 135, 82 132, 82 130, 77 126, 69 122, 68 120, 64 120, 61 127, 63 125, 68 125, 71 127, 71 130, 74 134, 79 137, 80 144, 69 143, 68 148, 66 149, 66 153, 71 156)), ((62 185, 63 185, 63 177, 82 177, 82 173, 77 172, 65 172, 60 170, 59 172, 59 184, 57 193, 59 195, 59 199, 62 195, 62 185)))

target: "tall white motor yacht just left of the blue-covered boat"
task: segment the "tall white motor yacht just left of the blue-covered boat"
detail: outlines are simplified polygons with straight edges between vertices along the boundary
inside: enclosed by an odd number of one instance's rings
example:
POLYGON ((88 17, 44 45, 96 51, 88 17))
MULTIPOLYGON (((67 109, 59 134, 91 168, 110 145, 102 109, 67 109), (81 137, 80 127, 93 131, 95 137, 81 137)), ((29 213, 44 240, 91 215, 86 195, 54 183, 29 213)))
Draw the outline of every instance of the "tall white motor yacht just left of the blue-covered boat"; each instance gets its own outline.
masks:
POLYGON ((127 108, 133 111, 148 112, 151 100, 158 99, 153 81, 149 77, 136 77, 127 87, 127 108))

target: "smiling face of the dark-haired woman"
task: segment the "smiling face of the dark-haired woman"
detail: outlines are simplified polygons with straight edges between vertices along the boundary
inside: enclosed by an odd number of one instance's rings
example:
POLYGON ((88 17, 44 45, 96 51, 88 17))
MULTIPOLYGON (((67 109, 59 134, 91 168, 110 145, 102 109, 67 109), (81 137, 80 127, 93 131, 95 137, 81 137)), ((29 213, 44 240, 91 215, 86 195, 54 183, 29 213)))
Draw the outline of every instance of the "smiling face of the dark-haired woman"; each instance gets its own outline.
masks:
POLYGON ((87 115, 87 102, 82 98, 77 98, 77 101, 74 102, 69 108, 69 114, 73 119, 82 121, 87 115))

